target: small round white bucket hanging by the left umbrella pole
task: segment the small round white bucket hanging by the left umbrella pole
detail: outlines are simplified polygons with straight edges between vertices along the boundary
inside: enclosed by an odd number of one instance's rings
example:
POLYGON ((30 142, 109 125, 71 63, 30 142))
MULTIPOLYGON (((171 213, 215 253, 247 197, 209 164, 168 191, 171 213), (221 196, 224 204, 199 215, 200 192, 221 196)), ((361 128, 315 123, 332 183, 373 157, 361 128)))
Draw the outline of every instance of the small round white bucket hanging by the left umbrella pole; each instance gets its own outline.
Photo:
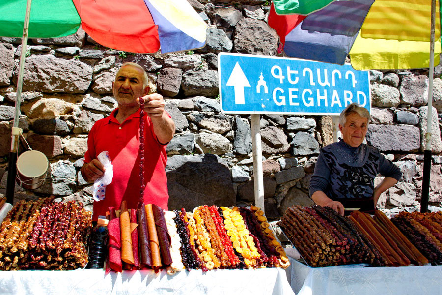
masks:
POLYGON ((17 159, 15 181, 26 189, 39 188, 48 174, 49 161, 44 153, 38 150, 28 150, 17 159))

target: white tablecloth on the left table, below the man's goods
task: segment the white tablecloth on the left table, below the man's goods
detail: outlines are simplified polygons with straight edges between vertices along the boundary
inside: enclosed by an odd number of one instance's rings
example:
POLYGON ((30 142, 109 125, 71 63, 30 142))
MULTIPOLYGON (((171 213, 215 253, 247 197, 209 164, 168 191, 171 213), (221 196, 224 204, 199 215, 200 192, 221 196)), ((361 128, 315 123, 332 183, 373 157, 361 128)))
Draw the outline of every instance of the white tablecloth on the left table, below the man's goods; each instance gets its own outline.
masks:
POLYGON ((0 271, 1 295, 294 295, 281 268, 181 271, 167 275, 151 270, 105 273, 72 271, 0 271))

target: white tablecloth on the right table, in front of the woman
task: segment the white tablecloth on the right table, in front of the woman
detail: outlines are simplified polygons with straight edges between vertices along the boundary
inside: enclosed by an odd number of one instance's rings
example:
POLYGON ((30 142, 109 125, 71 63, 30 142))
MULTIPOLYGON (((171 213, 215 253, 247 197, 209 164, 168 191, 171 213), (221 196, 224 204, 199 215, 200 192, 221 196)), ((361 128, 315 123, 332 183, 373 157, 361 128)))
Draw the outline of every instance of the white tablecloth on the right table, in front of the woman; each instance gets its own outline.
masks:
POLYGON ((442 295, 442 266, 312 268, 292 258, 287 276, 297 295, 442 295))

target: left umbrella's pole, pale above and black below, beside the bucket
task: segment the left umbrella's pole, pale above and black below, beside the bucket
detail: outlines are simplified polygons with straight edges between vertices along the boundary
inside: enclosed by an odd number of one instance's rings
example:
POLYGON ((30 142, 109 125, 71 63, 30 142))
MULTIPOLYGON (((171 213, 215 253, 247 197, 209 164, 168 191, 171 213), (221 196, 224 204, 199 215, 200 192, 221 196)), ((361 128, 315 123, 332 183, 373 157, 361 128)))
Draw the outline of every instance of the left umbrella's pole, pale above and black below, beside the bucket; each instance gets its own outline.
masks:
POLYGON ((18 143, 21 130, 18 129, 18 122, 20 118, 20 102, 22 97, 23 86, 23 69, 25 68, 26 57, 26 45, 28 43, 28 29, 29 29, 29 17, 32 0, 26 2, 25 21, 23 24, 23 38, 22 38, 22 52, 20 54, 20 64, 17 80, 17 91, 15 95, 15 116, 11 135, 11 151, 9 152, 8 161, 8 178, 6 183, 6 202, 13 204, 14 202, 14 190, 15 190, 15 174, 17 171, 17 154, 18 143))

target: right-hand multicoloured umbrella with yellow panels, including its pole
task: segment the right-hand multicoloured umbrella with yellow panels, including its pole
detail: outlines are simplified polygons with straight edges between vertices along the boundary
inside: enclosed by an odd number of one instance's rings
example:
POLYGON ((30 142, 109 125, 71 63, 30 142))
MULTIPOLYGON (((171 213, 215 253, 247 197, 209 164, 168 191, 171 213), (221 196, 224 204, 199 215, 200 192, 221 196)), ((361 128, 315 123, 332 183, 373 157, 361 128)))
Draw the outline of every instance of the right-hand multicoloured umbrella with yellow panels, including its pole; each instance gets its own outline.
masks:
POLYGON ((279 50, 290 57, 344 64, 349 55, 357 70, 429 68, 421 212, 427 210, 430 186, 440 9, 440 0, 274 0, 268 18, 279 50))

